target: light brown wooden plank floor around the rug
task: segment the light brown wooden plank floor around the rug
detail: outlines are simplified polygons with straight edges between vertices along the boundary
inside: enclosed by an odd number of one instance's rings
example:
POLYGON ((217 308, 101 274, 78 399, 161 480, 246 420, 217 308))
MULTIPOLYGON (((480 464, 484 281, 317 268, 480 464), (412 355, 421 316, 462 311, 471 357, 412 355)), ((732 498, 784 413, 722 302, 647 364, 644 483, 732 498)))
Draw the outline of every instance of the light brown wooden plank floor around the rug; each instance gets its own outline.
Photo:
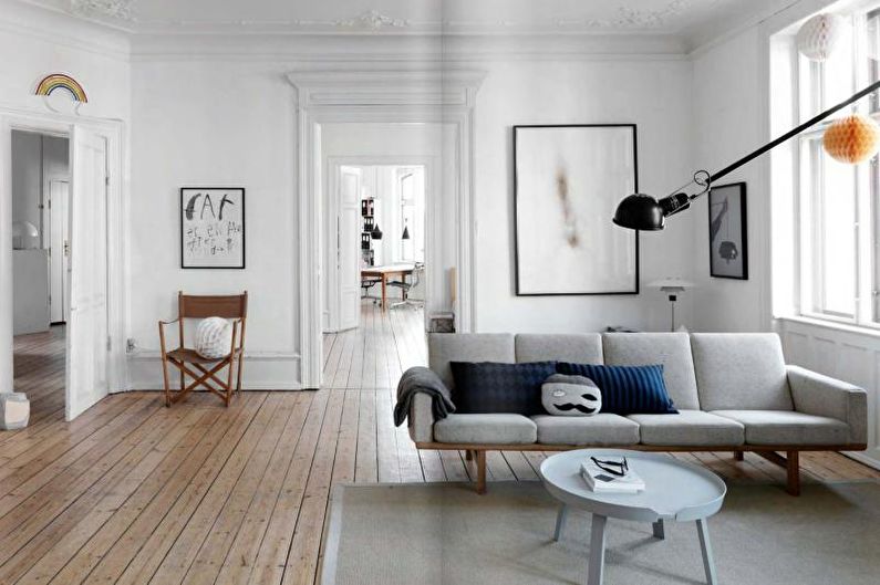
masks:
MULTIPOLYGON (((422 314, 371 303, 328 335, 327 387, 249 391, 224 408, 193 395, 111 396, 64 422, 63 330, 15 339, 31 425, 0 432, 0 584, 311 584, 339 482, 466 481, 459 452, 416 451, 395 428, 393 388, 425 363, 422 314)), ((545 455, 491 453, 490 480, 535 480, 545 455)), ((781 482, 750 453, 677 455, 726 478, 781 482)), ((880 478, 837 455, 803 458, 809 480, 880 478)))

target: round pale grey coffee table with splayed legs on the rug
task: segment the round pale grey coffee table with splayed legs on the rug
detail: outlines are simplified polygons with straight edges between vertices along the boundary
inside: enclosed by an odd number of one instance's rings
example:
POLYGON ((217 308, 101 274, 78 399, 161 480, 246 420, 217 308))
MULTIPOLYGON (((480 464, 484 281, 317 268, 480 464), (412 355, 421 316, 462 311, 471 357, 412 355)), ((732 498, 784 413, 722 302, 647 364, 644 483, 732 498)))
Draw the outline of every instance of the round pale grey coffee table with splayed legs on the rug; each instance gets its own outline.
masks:
POLYGON ((581 449, 548 457, 541 463, 541 479, 550 494, 562 505, 556 519, 559 540, 566 525, 569 506, 591 512, 590 561, 588 585, 600 585, 604 570, 605 524, 609 518, 653 523, 654 536, 663 539, 663 522, 696 521, 706 582, 717 583, 706 519, 721 510, 727 487, 712 471, 660 453, 621 449, 581 449), (639 493, 597 493, 580 474, 580 464, 597 459, 625 457, 645 482, 639 493))

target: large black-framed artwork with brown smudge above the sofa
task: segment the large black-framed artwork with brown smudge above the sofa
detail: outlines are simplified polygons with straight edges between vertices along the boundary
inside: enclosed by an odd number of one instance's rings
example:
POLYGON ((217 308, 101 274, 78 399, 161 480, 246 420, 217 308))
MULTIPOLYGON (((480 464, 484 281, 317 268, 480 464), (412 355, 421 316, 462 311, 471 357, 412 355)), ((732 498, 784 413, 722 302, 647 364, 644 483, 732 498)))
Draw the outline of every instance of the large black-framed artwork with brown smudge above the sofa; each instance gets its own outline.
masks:
POLYGON ((638 294, 639 233, 614 226, 638 192, 634 124, 514 126, 516 293, 638 294))

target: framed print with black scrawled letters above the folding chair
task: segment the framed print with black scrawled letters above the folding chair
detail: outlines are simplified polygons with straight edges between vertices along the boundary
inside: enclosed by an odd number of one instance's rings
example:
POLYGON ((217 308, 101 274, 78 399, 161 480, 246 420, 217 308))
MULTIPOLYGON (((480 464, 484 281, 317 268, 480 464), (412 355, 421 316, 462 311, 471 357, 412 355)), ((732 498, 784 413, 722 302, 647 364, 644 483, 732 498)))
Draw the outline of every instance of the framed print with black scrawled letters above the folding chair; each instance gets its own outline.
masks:
POLYGON ((245 268, 245 189, 180 189, 180 268, 245 268))

